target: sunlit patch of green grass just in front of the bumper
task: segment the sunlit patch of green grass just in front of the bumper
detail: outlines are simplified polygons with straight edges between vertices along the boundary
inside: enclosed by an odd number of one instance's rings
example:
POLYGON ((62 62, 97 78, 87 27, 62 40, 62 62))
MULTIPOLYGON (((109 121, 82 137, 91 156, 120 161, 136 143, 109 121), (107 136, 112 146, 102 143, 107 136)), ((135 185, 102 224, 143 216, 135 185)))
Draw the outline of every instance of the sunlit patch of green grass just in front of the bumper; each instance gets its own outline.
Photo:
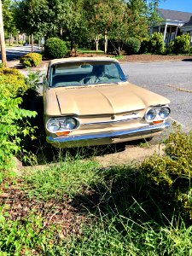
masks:
POLYGON ((26 173, 28 194, 40 200, 61 199, 64 194, 69 197, 79 195, 96 183, 99 173, 96 163, 91 161, 66 159, 58 165, 43 171, 26 173))

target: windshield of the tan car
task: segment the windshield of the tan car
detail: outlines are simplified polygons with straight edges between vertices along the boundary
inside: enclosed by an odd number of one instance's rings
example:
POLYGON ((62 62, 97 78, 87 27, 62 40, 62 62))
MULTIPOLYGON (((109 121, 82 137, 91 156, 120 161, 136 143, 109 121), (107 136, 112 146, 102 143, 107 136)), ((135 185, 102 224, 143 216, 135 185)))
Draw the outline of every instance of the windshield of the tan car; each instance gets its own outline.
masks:
POLYGON ((114 61, 75 61, 58 63, 49 69, 49 86, 86 86, 125 82, 119 63, 114 61))

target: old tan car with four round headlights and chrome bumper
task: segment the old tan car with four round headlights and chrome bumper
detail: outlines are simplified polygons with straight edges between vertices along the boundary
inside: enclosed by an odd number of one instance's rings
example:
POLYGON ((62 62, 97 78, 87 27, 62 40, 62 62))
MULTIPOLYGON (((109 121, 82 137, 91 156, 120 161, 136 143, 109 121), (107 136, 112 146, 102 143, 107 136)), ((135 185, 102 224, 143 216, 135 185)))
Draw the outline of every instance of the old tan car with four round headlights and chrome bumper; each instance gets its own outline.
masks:
POLYGON ((129 83, 114 59, 53 60, 44 79, 47 142, 71 148, 153 137, 170 125, 169 103, 129 83))

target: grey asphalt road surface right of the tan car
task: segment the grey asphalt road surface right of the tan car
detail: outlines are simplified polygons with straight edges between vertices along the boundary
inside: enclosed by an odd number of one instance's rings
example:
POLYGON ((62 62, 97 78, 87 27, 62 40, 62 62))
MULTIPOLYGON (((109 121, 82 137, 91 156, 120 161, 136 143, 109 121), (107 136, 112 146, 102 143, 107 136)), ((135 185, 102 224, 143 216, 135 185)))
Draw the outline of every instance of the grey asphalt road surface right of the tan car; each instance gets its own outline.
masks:
POLYGON ((131 83, 170 99, 171 119, 192 128, 192 61, 130 62, 122 64, 131 83))

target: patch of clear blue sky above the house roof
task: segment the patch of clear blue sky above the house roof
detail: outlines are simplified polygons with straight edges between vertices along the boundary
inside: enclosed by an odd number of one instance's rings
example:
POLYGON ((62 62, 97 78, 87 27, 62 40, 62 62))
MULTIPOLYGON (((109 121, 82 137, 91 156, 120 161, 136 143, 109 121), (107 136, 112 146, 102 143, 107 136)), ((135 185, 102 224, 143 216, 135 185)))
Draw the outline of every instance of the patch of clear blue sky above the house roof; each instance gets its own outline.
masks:
POLYGON ((192 13, 192 0, 161 0, 159 8, 192 13))

